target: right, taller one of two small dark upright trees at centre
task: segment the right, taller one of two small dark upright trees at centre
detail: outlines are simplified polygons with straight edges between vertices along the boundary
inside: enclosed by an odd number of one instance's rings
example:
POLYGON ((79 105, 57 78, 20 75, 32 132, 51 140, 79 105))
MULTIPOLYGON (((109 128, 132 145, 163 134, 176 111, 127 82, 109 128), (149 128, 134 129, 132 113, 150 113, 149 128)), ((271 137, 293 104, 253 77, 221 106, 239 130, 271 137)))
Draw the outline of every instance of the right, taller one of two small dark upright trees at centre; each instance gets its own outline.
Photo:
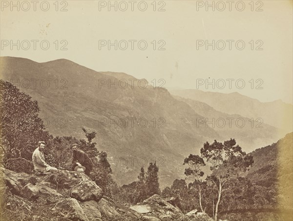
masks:
POLYGON ((156 162, 149 163, 146 173, 146 194, 148 197, 154 194, 161 194, 159 177, 158 177, 159 167, 156 162))

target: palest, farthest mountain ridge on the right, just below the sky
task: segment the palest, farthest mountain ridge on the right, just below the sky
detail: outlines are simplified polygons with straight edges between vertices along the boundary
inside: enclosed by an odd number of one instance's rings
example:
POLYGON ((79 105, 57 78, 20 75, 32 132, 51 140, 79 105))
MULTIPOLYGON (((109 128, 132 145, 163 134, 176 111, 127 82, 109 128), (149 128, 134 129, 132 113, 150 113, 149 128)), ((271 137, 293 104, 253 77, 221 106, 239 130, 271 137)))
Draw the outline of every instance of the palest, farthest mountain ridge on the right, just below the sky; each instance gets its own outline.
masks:
POLYGON ((227 94, 200 90, 173 90, 170 93, 204 102, 217 111, 253 119, 262 118, 265 124, 280 129, 281 133, 293 131, 293 105, 281 100, 263 103, 238 92, 227 94))

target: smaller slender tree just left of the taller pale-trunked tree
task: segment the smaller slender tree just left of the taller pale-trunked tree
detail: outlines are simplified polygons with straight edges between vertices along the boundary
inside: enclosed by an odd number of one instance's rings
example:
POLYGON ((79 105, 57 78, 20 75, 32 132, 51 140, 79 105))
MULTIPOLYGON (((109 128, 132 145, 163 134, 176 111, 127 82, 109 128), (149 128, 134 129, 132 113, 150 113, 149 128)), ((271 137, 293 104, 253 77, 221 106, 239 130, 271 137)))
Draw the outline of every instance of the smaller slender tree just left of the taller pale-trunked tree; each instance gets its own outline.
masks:
MULTIPOLYGON (((190 154, 187 158, 184 159, 183 165, 185 164, 188 164, 189 167, 185 169, 184 174, 187 177, 192 177, 195 179, 194 183, 196 183, 198 187, 197 191, 198 191, 198 200, 199 200, 200 209, 202 210, 202 212, 205 212, 202 206, 202 190, 203 190, 201 185, 202 182, 199 180, 199 178, 204 175, 204 172, 201 170, 202 166, 206 166, 204 159, 198 155, 190 154)), ((191 185, 191 186, 194 187, 195 185, 191 185)))

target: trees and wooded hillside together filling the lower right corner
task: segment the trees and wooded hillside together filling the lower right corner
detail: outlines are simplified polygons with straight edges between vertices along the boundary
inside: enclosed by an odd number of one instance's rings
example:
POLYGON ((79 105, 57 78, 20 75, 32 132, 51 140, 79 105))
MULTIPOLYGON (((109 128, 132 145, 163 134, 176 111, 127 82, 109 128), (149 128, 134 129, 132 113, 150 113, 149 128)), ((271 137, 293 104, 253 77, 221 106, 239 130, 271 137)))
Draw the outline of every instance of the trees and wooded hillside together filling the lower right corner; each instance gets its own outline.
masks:
MULTIPOLYGON (((201 156, 190 154, 185 159, 184 164, 188 165, 185 175, 188 179, 181 180, 180 188, 174 188, 174 184, 166 187, 162 194, 164 197, 179 195, 184 212, 204 210, 214 217, 219 185, 222 184, 219 219, 288 220, 288 217, 292 218, 292 143, 293 133, 290 133, 277 143, 257 149, 249 155, 242 152, 233 139, 224 144, 217 141, 206 143, 201 149, 201 156), (226 154, 223 154, 223 150, 226 154), (204 164, 209 165, 212 173, 201 180, 201 167, 204 164), (186 184, 189 178, 194 181, 186 184)), ((176 183, 178 185, 179 181, 176 180, 176 183)))

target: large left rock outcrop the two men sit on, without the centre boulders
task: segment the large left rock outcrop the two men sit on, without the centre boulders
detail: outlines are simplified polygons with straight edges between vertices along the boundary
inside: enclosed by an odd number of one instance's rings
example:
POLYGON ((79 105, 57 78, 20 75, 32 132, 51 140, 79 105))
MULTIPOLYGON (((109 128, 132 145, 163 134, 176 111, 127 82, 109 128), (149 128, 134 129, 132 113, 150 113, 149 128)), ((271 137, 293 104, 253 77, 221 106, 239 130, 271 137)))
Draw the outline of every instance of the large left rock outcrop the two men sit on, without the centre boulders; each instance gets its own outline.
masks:
POLYGON ((50 214, 42 214, 29 210, 29 220, 136 221, 142 217, 135 210, 103 197, 102 189, 82 172, 59 170, 58 173, 29 175, 1 167, 0 173, 1 190, 8 187, 22 202, 26 200, 30 205, 36 202, 36 207, 43 203, 50 211, 50 214))

